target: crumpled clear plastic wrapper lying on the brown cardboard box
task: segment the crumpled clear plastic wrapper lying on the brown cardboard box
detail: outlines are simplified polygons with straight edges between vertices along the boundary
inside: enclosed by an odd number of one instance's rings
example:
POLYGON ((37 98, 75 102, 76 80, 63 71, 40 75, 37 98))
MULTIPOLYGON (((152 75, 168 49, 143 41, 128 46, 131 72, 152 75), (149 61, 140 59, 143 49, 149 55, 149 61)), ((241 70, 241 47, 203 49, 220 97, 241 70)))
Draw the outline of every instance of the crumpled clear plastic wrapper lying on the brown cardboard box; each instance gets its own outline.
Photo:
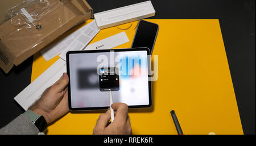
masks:
MULTIPOLYGON (((16 55, 22 54, 27 49, 42 43, 42 41, 34 43, 36 40, 42 40, 39 37, 43 37, 46 33, 42 30, 45 25, 44 23, 48 22, 40 20, 46 18, 49 13, 58 9, 61 5, 63 3, 57 0, 28 0, 6 11, 5 16, 6 19, 9 19, 12 30, 10 30, 10 34, 5 38, 6 41, 13 45, 13 48, 19 48, 15 51, 16 55), (26 42, 26 46, 31 44, 31 47, 26 47, 26 49, 20 48, 21 42, 26 42)), ((54 18, 47 19, 47 21, 55 21, 54 27, 56 29, 63 25, 65 19, 65 16, 55 16, 54 18)))

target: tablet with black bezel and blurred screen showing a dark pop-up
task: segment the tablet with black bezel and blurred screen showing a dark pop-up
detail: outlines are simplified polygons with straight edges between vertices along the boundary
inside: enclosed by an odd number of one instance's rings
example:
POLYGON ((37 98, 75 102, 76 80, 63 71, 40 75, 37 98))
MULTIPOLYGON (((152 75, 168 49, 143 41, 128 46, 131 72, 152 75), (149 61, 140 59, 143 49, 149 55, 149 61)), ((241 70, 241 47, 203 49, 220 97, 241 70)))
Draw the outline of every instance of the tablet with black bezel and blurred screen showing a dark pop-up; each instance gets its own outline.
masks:
POLYGON ((150 107, 150 60, 148 48, 67 52, 69 110, 108 109, 109 90, 113 103, 150 107))

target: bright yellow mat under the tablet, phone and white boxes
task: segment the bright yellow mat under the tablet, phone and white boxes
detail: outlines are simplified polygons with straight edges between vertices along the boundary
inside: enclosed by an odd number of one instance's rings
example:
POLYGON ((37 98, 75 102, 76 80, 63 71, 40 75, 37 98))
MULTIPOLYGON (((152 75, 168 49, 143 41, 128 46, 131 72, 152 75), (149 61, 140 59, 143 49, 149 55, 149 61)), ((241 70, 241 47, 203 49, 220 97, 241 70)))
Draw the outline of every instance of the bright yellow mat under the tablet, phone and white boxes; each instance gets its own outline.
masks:
MULTIPOLYGON (((177 134, 170 110, 184 134, 243 134, 218 20, 147 21, 159 24, 152 54, 158 55, 159 76, 152 84, 153 106, 129 110, 133 134, 177 134)), ((130 41, 115 48, 129 48, 136 26, 132 22, 118 26, 128 30, 101 30, 91 43, 125 31, 130 41)), ((31 82, 57 59, 46 62, 40 53, 34 55, 31 82)), ((48 127, 48 134, 92 134, 102 112, 69 112, 48 127)))

